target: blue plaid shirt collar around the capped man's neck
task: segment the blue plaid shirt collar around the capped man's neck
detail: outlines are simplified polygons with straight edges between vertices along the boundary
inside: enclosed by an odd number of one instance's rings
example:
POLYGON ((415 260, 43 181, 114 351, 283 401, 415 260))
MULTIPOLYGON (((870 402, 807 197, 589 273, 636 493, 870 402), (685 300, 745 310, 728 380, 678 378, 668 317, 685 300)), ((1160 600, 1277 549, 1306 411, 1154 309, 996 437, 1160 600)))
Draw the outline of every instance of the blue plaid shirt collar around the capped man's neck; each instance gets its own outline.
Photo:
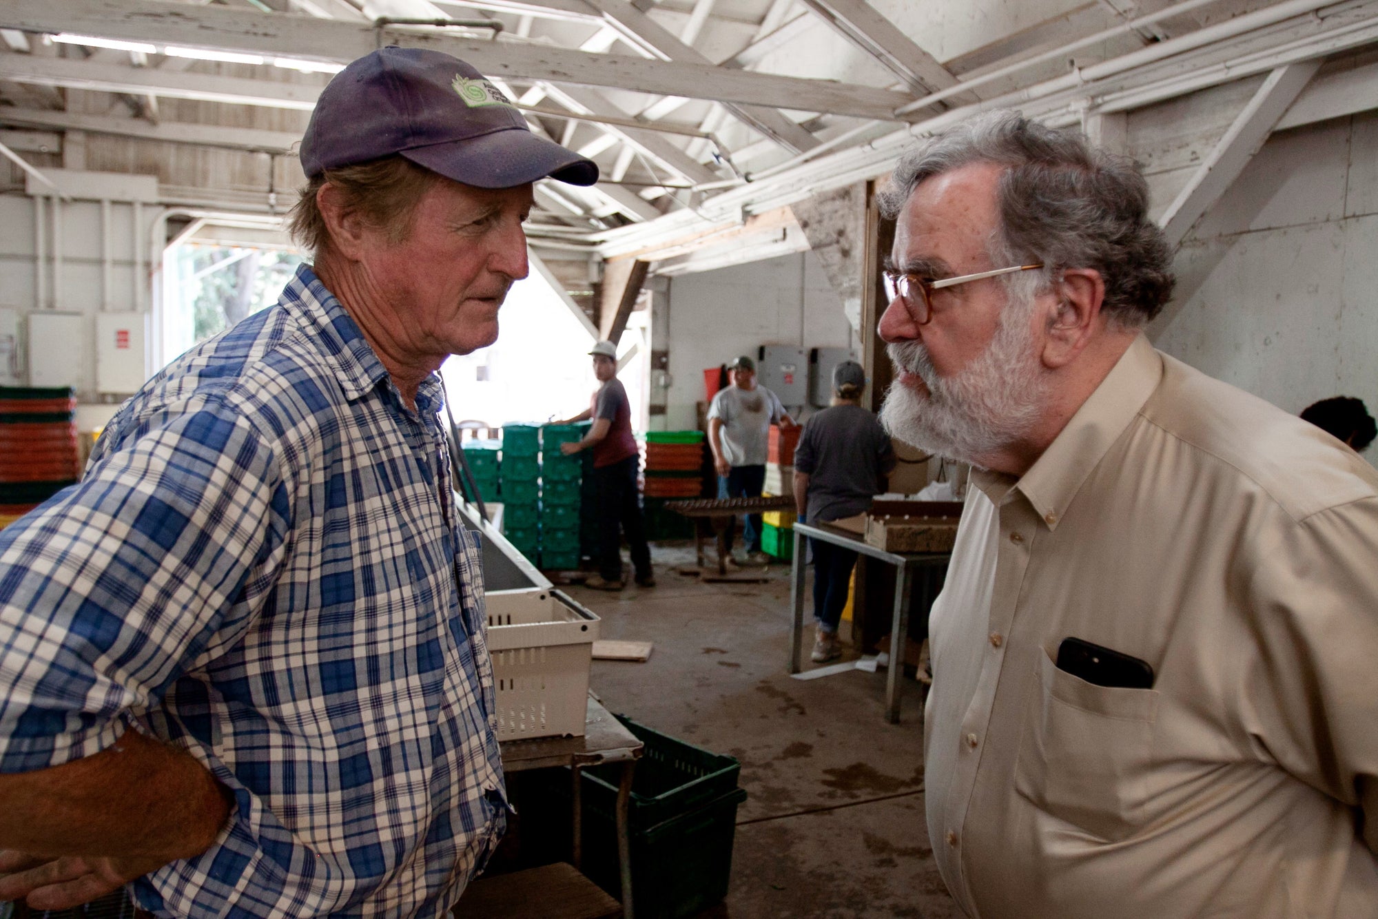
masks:
MULTIPOLYGON (((296 277, 282 291, 282 303, 311 335, 327 361, 335 365, 336 380, 344 398, 354 401, 389 379, 387 368, 378 360, 354 317, 331 293, 309 265, 296 269, 296 277)), ((390 382, 390 380, 389 380, 390 382)), ((416 387, 416 411, 434 415, 441 405, 440 376, 431 373, 416 387)))

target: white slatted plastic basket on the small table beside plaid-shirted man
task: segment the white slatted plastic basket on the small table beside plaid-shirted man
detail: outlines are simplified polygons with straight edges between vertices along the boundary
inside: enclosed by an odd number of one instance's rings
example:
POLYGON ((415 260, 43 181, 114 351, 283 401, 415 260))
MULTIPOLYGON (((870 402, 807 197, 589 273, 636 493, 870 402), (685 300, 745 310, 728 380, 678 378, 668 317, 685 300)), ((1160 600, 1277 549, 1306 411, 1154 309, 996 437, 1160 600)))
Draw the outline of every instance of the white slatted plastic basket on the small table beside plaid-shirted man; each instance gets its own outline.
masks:
POLYGON ((548 588, 491 591, 485 601, 497 740, 583 736, 598 617, 548 588))

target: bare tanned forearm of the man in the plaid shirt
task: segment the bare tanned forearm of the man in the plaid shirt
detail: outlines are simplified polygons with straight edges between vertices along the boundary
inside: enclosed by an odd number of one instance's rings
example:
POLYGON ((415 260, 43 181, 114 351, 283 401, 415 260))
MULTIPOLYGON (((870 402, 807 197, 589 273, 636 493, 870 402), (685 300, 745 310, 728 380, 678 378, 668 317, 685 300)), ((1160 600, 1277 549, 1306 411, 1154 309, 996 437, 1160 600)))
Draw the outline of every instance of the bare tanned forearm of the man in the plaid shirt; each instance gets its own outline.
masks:
POLYGON ((45 856, 197 856, 232 796, 189 754, 127 730, 62 766, 0 776, 0 849, 45 856))

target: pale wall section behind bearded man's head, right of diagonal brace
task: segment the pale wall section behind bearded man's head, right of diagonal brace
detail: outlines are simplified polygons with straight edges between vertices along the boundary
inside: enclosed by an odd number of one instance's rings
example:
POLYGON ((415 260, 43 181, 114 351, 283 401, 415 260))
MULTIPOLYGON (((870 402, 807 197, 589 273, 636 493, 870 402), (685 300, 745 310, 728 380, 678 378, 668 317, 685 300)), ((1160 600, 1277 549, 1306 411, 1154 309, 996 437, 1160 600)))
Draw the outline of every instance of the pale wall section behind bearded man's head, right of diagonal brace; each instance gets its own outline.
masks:
POLYGON ((1378 411, 1378 113, 1273 135, 1178 276, 1162 350, 1288 412, 1330 395, 1378 411))

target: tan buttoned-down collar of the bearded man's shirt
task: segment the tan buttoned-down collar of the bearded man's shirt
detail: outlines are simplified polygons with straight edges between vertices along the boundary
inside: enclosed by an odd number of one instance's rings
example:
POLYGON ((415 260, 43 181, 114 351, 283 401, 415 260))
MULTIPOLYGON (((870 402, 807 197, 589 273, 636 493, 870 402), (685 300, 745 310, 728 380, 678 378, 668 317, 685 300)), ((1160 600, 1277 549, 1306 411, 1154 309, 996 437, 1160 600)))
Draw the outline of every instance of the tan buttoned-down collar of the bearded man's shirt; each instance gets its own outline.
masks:
POLYGON ((1163 358, 1141 333, 1082 404, 1067 427, 1020 479, 971 471, 971 482, 999 506, 1018 489, 1049 529, 1057 529, 1082 482, 1144 408, 1163 379, 1163 358))

